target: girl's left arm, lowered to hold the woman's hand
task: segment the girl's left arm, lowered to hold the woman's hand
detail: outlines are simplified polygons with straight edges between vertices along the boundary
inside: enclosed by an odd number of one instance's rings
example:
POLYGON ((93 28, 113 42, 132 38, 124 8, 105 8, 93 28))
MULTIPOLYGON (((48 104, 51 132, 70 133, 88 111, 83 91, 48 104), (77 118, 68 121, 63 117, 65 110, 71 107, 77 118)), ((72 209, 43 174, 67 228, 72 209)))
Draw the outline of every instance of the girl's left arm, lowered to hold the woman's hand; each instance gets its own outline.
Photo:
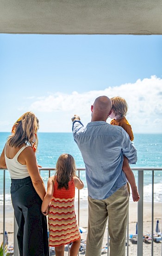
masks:
POLYGON ((50 201, 52 199, 53 192, 54 192, 54 183, 52 178, 50 177, 47 184, 47 193, 44 196, 44 200, 42 202, 42 207, 41 207, 42 213, 46 212, 46 209, 48 208, 50 201))

